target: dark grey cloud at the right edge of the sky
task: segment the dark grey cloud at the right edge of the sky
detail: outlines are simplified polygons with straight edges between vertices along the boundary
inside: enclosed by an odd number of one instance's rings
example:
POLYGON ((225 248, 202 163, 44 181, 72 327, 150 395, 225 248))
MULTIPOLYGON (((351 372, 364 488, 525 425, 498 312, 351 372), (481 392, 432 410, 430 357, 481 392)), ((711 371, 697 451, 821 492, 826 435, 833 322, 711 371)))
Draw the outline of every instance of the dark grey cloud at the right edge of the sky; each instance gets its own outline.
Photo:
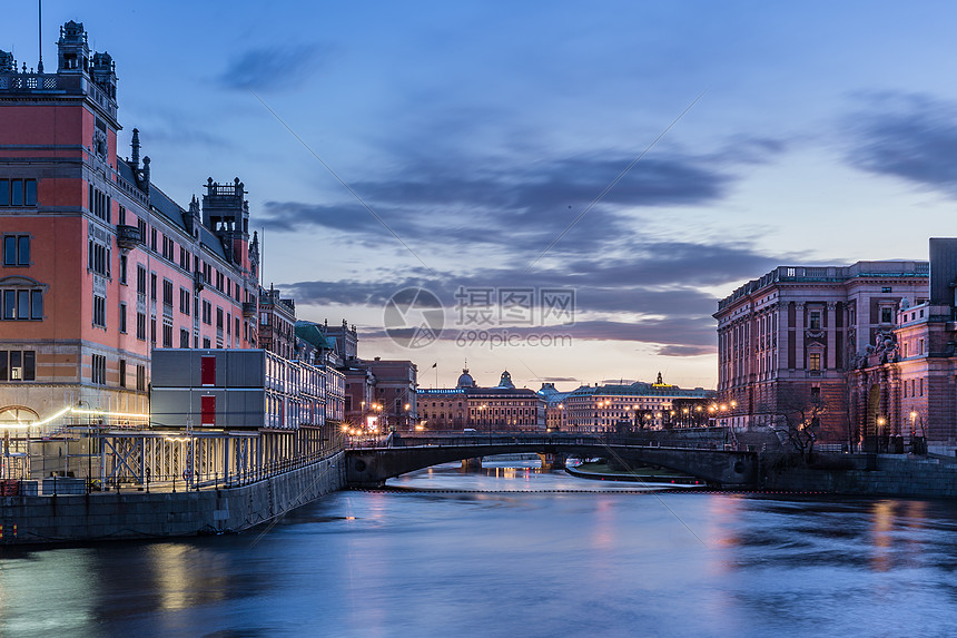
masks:
POLYGON ((850 164, 957 196, 957 105, 918 94, 861 96, 847 118, 850 164))

